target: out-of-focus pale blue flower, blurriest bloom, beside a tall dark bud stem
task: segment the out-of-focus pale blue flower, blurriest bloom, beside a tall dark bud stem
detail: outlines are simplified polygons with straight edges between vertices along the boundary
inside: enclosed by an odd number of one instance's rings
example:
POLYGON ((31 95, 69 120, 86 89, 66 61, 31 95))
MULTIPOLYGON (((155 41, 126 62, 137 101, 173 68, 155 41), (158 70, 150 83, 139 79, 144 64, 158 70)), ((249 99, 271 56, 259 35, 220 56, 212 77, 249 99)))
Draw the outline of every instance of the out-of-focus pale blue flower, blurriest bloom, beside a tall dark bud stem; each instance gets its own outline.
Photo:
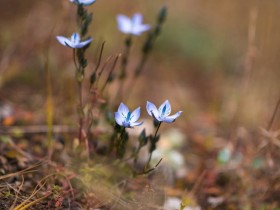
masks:
POLYGON ((140 13, 134 14, 131 18, 125 15, 118 15, 118 28, 125 34, 139 36, 151 28, 150 25, 142 24, 142 19, 143 17, 140 13))

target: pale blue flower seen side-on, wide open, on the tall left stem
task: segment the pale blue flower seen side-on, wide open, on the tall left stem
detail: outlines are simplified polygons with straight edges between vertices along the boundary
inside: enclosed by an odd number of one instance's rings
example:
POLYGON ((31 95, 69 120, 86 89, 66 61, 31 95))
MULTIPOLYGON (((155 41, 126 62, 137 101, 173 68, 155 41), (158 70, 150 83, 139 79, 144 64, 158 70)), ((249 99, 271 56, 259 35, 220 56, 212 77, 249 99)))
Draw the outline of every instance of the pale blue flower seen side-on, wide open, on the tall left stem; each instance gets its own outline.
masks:
POLYGON ((81 42, 81 38, 78 33, 73 33, 70 38, 66 38, 64 36, 56 36, 56 39, 60 44, 71 48, 83 48, 93 40, 92 38, 89 38, 81 42))

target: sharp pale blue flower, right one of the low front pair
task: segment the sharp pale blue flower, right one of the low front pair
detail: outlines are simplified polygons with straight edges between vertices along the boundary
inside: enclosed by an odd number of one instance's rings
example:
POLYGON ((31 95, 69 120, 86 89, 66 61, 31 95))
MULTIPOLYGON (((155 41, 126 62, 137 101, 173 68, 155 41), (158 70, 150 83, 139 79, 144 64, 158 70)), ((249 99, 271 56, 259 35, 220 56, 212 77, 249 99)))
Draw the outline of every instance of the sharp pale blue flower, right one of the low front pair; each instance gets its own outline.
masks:
POLYGON ((176 114, 169 116, 171 113, 171 105, 168 100, 163 102, 158 109, 153 103, 147 101, 146 109, 148 114, 157 121, 166 123, 174 122, 182 114, 182 111, 179 111, 176 114))

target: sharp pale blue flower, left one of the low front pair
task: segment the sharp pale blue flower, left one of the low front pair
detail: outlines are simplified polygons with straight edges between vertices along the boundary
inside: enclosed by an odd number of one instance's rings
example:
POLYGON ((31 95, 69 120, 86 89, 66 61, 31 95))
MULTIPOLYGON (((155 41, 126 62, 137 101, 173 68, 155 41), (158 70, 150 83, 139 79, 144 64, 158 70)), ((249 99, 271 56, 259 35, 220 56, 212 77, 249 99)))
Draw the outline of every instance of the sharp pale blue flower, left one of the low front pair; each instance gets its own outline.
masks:
POLYGON ((130 112, 124 103, 121 103, 118 111, 115 112, 116 122, 123 127, 132 128, 134 126, 142 125, 142 122, 136 122, 140 117, 140 107, 130 112))

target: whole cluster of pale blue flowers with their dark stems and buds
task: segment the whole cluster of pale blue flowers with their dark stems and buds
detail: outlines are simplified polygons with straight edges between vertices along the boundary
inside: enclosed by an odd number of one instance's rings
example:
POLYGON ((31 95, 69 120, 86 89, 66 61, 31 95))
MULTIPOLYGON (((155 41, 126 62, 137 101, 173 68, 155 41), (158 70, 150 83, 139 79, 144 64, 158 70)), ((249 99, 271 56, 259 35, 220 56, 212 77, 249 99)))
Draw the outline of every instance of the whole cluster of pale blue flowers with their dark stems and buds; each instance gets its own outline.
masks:
MULTIPOLYGON (((99 54, 99 60, 96 65, 95 70, 91 73, 89 78, 90 83, 90 93, 92 94, 92 100, 90 105, 88 105, 84 100, 84 80, 85 80, 85 71, 88 64, 88 61, 85 57, 85 52, 88 49, 89 45, 92 43, 93 38, 87 36, 88 27, 92 21, 92 13, 89 13, 86 9, 87 6, 92 5, 95 1, 90 0, 70 0, 70 2, 75 3, 77 6, 77 23, 78 28, 80 30, 80 34, 78 32, 74 32, 70 38, 64 36, 57 36, 57 40, 64 46, 72 48, 73 50, 73 60, 75 64, 75 79, 78 84, 78 116, 79 116, 79 132, 78 132, 78 140, 80 151, 85 148, 87 157, 89 158, 91 155, 92 149, 90 148, 89 143, 89 135, 94 125, 98 124, 100 116, 105 116, 107 122, 113 126, 113 133, 110 137, 109 145, 107 146, 106 152, 104 154, 108 154, 109 156, 113 156, 119 159, 124 158, 126 150, 127 150, 127 142, 129 140, 127 128, 133 128, 135 126, 140 126, 143 124, 142 122, 138 122, 140 118, 141 109, 138 107, 134 111, 130 111, 129 108, 121 102, 117 112, 115 112, 114 117, 112 115, 112 105, 116 105, 117 101, 123 101, 124 99, 124 81, 127 79, 127 64, 130 57, 130 49, 132 46, 133 36, 140 36, 144 32, 148 32, 147 38, 142 47, 142 57, 140 58, 139 64, 134 70, 134 76, 131 80, 132 83, 135 82, 136 78, 142 72, 144 64, 148 58, 149 53, 151 52, 156 37, 160 34, 161 26, 166 18, 167 10, 163 7, 159 15, 157 17, 156 26, 152 27, 149 24, 143 24, 143 16, 140 13, 134 14, 132 17, 127 17, 125 15, 117 15, 116 20, 118 24, 118 29, 127 35, 124 41, 125 50, 121 55, 121 63, 120 70, 117 73, 113 73, 116 68, 116 64, 118 61, 119 55, 115 56, 115 60, 113 63, 113 67, 109 71, 107 75, 107 79, 102 86, 98 84, 98 81, 102 74, 104 73, 104 69, 106 67, 105 62, 103 67, 99 69, 101 66, 102 60, 102 52, 104 48, 104 43, 101 47, 101 51, 99 54), (104 89, 108 84, 116 81, 118 83, 118 90, 116 93, 115 100, 110 104, 109 98, 103 94, 104 89), (102 98, 103 100, 100 100, 102 98), (102 102, 100 102, 102 101, 102 102), (93 112, 98 110, 98 117, 93 112), (83 147, 84 146, 84 147, 83 147)), ((138 147, 133 152, 131 157, 134 158, 134 163, 137 162, 139 152, 142 147, 146 146, 148 143, 149 146, 149 157, 147 159, 147 163, 141 173, 147 173, 150 171, 149 165, 152 157, 152 153, 156 149, 156 144, 159 141, 159 128, 162 122, 172 123, 174 122, 182 113, 182 111, 177 112, 174 115, 170 116, 171 113, 171 105, 168 100, 166 100, 159 108, 157 108, 153 103, 147 101, 146 104, 147 113, 153 118, 155 133, 154 135, 147 135, 145 129, 142 130, 139 138, 138 138, 138 147)), ((95 142, 95 147, 98 147, 98 142, 95 142)))

